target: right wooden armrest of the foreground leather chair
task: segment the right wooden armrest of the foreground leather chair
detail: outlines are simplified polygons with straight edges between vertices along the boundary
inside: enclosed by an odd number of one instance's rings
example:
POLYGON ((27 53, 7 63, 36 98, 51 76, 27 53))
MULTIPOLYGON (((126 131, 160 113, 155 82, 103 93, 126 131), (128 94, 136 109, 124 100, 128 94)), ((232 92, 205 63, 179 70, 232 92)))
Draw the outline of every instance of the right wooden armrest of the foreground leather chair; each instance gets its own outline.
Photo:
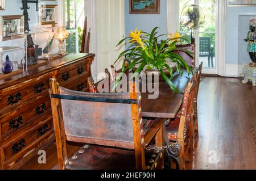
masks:
POLYGON ((144 133, 144 142, 146 146, 150 144, 152 138, 154 138, 155 134, 159 131, 160 128, 164 126, 164 121, 166 119, 156 119, 155 122, 151 125, 150 129, 146 133, 144 133))

